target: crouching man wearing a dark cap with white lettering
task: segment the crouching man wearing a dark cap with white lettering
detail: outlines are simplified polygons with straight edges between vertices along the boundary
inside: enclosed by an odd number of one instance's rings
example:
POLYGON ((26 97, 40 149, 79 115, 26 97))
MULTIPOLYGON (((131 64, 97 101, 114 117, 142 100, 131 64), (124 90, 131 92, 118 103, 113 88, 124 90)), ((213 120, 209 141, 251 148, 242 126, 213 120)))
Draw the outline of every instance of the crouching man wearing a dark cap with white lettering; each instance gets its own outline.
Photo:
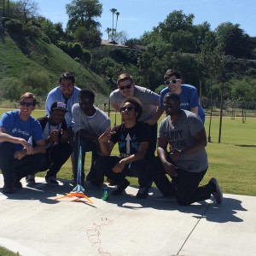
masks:
MULTIPOLYGON (((65 113, 67 113, 65 103, 53 102, 50 107, 49 116, 38 119, 42 126, 46 144, 46 164, 41 171, 49 169, 45 175, 45 181, 50 185, 59 184, 56 175, 72 153, 72 147, 68 143, 65 113)), ((34 183, 34 175, 26 177, 26 182, 34 183)))

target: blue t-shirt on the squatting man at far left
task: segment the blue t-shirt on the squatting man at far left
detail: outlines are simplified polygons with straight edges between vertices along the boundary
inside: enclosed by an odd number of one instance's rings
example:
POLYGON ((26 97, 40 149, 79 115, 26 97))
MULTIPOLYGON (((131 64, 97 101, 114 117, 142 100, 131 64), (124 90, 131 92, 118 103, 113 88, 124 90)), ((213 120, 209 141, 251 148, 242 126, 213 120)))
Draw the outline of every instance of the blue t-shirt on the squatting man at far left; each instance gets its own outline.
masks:
MULTIPOLYGON (((13 137, 21 137, 28 141, 32 137, 35 141, 43 140, 43 131, 37 119, 30 116, 26 121, 20 119, 20 110, 3 113, 0 127, 13 137)), ((15 144, 15 150, 22 149, 21 144, 15 144)))

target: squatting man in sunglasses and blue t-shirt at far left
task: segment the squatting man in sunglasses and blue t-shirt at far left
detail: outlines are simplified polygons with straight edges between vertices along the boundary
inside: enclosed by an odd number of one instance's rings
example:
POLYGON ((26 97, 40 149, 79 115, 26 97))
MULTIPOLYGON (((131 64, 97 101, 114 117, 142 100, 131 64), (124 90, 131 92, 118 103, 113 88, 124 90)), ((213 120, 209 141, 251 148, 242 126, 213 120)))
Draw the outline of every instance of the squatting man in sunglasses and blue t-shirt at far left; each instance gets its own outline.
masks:
POLYGON ((3 113, 0 119, 0 167, 3 172, 3 193, 22 188, 20 179, 42 170, 45 164, 44 136, 37 119, 31 116, 36 97, 26 92, 20 97, 19 110, 3 113), (33 137, 35 146, 28 142, 33 137))

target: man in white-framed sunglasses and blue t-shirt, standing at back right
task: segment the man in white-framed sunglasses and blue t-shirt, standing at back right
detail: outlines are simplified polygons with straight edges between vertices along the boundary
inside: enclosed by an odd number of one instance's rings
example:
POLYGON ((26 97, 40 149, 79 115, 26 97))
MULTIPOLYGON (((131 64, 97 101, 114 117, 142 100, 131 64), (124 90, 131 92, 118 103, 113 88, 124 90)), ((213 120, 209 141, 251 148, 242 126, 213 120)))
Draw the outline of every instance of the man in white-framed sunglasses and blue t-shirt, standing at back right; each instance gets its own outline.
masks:
POLYGON ((201 121, 205 123, 205 113, 199 103, 198 94, 195 86, 183 84, 181 74, 177 70, 168 69, 164 75, 166 88, 160 91, 160 108, 158 117, 164 113, 163 99, 166 93, 176 93, 180 98, 180 107, 189 110, 200 116, 201 121))

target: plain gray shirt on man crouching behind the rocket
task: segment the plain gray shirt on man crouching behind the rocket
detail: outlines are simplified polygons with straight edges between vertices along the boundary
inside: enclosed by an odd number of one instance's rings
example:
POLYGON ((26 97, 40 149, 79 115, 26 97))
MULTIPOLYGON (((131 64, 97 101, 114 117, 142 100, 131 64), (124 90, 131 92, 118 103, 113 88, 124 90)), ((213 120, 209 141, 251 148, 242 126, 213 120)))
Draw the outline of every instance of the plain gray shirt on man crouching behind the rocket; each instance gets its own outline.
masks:
POLYGON ((84 129, 89 134, 100 136, 110 126, 108 115, 99 108, 96 108, 94 115, 87 116, 79 107, 79 103, 76 103, 72 107, 72 115, 74 133, 84 129))

